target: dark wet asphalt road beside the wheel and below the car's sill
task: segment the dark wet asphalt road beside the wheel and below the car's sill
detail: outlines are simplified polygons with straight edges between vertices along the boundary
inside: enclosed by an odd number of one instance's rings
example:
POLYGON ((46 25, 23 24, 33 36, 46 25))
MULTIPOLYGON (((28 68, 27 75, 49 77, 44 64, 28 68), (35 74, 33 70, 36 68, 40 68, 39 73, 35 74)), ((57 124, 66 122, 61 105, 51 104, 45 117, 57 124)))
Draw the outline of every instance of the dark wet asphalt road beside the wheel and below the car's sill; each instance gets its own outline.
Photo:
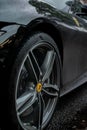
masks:
POLYGON ((87 130, 87 84, 60 99, 46 130, 87 130))

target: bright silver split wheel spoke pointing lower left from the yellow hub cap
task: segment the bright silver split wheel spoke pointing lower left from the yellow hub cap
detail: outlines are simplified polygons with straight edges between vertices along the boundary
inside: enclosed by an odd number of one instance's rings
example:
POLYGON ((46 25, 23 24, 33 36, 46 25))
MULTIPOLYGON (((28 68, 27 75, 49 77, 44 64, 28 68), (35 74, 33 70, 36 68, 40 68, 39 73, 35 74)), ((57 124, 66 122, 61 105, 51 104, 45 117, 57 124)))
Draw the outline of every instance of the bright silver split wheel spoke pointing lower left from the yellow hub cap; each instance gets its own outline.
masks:
POLYGON ((18 115, 24 114, 26 110, 35 103, 36 101, 36 92, 31 92, 25 96, 21 96, 16 100, 18 115))

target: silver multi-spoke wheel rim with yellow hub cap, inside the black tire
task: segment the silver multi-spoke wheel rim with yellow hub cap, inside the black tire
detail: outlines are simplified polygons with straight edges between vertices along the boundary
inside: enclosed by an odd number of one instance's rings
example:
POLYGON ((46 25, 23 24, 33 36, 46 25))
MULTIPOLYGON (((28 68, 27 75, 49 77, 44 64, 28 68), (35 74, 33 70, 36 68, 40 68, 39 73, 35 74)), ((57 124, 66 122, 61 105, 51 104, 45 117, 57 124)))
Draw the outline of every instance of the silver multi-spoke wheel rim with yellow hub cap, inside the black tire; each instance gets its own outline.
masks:
POLYGON ((53 114, 59 92, 57 59, 54 47, 39 43, 26 52, 20 63, 15 103, 24 130, 43 129, 53 114))

